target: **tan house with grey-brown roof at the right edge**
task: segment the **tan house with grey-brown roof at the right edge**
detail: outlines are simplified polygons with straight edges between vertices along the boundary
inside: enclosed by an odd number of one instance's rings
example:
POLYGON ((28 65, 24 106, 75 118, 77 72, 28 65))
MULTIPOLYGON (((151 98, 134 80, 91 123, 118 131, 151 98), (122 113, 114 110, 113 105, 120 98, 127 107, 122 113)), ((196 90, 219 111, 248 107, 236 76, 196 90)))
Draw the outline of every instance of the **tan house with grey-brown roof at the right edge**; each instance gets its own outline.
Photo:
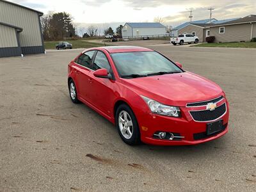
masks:
POLYGON ((215 42, 248 42, 256 37, 256 15, 209 26, 215 42))

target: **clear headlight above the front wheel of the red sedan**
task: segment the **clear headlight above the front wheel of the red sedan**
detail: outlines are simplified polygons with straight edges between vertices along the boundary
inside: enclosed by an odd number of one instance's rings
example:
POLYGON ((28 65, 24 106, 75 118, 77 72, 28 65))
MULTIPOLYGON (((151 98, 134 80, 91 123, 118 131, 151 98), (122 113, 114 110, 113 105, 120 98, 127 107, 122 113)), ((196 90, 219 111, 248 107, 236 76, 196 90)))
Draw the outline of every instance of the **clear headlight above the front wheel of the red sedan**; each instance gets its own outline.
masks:
POLYGON ((166 106, 157 102, 156 100, 149 99, 141 95, 141 98, 145 100, 152 113, 166 116, 180 117, 180 108, 173 106, 166 106))

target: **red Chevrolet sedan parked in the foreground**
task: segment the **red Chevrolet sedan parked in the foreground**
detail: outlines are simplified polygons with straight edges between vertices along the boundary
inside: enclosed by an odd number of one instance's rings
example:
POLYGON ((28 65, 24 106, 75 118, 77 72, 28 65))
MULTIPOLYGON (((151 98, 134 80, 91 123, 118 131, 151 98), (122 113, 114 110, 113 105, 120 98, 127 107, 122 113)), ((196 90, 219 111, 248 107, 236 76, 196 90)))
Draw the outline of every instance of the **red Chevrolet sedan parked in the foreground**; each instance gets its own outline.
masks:
POLYGON ((116 125, 129 145, 194 145, 228 131, 220 86, 143 47, 86 49, 68 65, 72 102, 116 125))

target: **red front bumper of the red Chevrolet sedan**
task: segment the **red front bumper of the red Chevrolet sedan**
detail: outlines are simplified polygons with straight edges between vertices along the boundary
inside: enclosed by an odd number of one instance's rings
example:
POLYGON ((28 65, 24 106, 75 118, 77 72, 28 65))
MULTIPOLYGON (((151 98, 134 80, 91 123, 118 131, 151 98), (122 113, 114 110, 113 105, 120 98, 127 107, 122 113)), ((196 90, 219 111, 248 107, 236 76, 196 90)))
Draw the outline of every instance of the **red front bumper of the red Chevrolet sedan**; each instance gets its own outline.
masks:
POLYGON ((196 145, 198 143, 204 143, 220 138, 228 132, 229 106, 227 100, 223 100, 223 102, 225 102, 227 106, 225 114, 208 122, 196 122, 193 120, 189 113, 189 111, 193 109, 186 107, 180 108, 182 113, 181 118, 144 113, 144 115, 138 116, 141 141, 152 145, 196 145), (223 125, 225 125, 223 130, 207 136, 207 124, 218 120, 223 120, 223 125), (154 138, 154 133, 157 131, 177 133, 184 138, 181 138, 180 140, 161 140, 160 138, 154 138), (196 134, 202 134, 203 136, 198 139, 195 138, 196 134))

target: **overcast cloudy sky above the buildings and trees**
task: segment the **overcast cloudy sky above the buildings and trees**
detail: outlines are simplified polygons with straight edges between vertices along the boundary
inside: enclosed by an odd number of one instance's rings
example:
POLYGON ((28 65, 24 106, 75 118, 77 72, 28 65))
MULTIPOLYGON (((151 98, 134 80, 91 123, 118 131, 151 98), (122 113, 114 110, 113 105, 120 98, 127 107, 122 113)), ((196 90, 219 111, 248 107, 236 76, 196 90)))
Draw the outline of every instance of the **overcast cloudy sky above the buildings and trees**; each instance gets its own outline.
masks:
POLYGON ((208 19, 211 6, 212 17, 230 19, 256 14, 255 0, 11 0, 47 14, 68 12, 77 24, 119 24, 125 22, 152 22, 163 17, 164 24, 177 26, 189 20, 208 19))

